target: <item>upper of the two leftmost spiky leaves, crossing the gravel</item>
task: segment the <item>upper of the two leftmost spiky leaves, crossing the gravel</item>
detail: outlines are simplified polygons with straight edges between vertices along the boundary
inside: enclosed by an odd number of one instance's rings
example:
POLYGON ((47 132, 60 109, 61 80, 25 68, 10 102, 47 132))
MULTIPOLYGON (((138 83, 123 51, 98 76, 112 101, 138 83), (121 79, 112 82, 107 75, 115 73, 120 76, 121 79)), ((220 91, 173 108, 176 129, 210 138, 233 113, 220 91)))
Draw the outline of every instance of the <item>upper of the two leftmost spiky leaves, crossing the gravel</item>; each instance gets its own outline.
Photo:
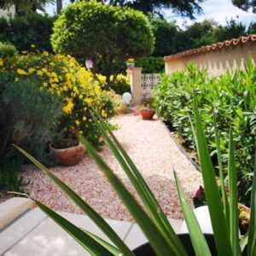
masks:
POLYGON ((93 208, 91 208, 79 195, 77 195, 72 189, 70 189, 66 183, 63 183, 61 179, 56 177, 52 172, 42 165, 38 160, 32 157, 32 155, 28 154, 22 148, 15 146, 20 153, 24 154, 35 166, 51 179, 62 191, 66 193, 66 195, 86 213, 90 219, 102 230, 102 232, 108 236, 108 238, 113 241, 113 244, 119 248, 122 253, 125 255, 133 256, 134 254, 131 250, 125 245, 124 241, 120 239, 120 237, 116 234, 116 232, 109 226, 109 224, 102 218, 100 214, 98 214, 93 208))

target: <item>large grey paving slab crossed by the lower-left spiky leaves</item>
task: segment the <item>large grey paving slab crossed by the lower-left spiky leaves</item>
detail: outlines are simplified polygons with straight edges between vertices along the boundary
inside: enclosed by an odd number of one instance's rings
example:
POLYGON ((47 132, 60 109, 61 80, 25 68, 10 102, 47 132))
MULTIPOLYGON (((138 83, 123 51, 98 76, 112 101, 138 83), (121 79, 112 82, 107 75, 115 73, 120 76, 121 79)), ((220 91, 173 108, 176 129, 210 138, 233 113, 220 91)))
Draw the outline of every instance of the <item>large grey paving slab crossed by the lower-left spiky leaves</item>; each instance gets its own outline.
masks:
MULTIPOLYGON (((106 238, 90 218, 84 215, 61 213, 73 224, 83 227, 90 232, 106 238)), ((108 220, 113 230, 124 238, 131 229, 131 223, 108 220)), ((11 247, 4 256, 79 256, 89 255, 84 248, 72 237, 55 224, 51 219, 45 219, 38 227, 32 230, 27 236, 20 240, 14 247, 11 247)))

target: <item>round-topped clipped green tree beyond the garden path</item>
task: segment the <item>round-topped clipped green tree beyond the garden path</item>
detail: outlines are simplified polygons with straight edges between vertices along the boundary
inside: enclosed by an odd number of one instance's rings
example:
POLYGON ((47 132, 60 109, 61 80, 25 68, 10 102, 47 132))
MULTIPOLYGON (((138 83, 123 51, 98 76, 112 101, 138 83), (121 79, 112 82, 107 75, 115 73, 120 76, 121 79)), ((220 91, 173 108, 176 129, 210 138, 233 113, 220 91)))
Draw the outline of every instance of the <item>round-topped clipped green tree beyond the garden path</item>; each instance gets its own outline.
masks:
POLYGON ((129 57, 152 53, 154 35, 148 18, 140 11, 81 1, 62 11, 51 43, 57 53, 94 61, 93 71, 105 75, 109 84, 110 76, 115 77, 129 57))

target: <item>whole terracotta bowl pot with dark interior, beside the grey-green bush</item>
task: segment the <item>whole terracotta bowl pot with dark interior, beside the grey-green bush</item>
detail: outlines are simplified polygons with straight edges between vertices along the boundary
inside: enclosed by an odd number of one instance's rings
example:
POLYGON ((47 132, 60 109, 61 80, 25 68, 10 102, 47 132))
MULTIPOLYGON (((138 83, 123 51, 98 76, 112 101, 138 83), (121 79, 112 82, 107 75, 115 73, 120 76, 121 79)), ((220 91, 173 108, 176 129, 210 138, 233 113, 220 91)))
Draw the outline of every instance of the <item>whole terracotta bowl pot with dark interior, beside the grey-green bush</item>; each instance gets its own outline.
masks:
POLYGON ((55 139, 49 144, 49 149, 55 157, 55 161, 61 166, 75 166, 84 157, 85 148, 82 143, 73 138, 55 139))

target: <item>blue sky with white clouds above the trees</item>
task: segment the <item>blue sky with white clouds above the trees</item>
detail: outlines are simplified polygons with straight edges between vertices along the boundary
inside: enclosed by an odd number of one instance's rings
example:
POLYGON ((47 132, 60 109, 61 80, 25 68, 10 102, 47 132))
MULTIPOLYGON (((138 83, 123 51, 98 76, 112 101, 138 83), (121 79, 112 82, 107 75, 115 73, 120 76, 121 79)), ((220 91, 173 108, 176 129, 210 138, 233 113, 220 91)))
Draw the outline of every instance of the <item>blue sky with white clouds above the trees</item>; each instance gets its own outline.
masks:
MULTIPOLYGON (((64 5, 69 3, 68 0, 63 0, 64 5)), ((170 10, 164 10, 164 14, 167 20, 177 20, 177 25, 184 26, 192 24, 195 21, 201 21, 205 19, 213 19, 218 21, 220 24, 225 24, 226 20, 237 19, 241 20, 242 23, 247 26, 251 21, 256 21, 256 15, 250 12, 242 11, 236 8, 231 3, 231 0, 205 0, 201 4, 203 13, 201 15, 196 15, 195 20, 184 19, 180 15, 173 14, 170 10)), ((47 12, 53 14, 55 11, 55 6, 48 6, 47 12)))

